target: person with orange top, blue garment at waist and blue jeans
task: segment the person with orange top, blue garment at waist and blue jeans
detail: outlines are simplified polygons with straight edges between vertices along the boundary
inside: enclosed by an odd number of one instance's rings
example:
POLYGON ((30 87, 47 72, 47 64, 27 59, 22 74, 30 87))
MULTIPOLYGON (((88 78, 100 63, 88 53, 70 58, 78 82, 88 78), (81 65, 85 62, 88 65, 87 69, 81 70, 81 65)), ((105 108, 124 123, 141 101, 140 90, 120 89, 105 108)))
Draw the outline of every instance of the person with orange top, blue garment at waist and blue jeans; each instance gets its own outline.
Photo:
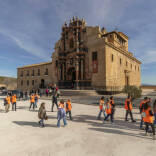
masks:
POLYGON ((67 121, 66 121, 66 113, 65 113, 65 110, 64 110, 64 101, 63 100, 61 100, 59 105, 58 105, 57 127, 60 127, 61 119, 63 119, 64 126, 66 126, 67 125, 67 121))

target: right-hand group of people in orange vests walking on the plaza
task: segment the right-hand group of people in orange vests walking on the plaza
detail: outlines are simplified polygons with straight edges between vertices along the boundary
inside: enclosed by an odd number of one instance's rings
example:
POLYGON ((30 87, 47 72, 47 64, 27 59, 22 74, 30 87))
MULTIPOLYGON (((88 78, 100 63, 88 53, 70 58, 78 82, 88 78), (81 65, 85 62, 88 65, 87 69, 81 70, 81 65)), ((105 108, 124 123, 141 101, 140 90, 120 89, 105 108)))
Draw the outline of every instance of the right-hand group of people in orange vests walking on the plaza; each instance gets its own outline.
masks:
MULTIPOLYGON (((133 118, 133 104, 132 104, 132 97, 128 96, 125 100, 125 121, 128 121, 128 115, 130 115, 131 121, 136 122, 133 118)), ((153 103, 153 108, 151 106, 151 99, 148 97, 145 97, 143 101, 141 101, 139 110, 141 114, 141 121, 140 121, 140 129, 145 130, 145 135, 148 135, 148 132, 153 133, 153 139, 156 140, 155 137, 155 125, 156 125, 156 100, 153 103), (143 125, 145 125, 145 128, 143 128, 143 125), (151 127, 151 131, 149 130, 149 126, 151 127)), ((114 123, 114 114, 115 114, 115 103, 113 96, 106 99, 104 96, 101 97, 99 101, 99 114, 97 119, 101 120, 101 114, 104 115, 103 122, 108 120, 110 117, 111 123, 114 123)))

